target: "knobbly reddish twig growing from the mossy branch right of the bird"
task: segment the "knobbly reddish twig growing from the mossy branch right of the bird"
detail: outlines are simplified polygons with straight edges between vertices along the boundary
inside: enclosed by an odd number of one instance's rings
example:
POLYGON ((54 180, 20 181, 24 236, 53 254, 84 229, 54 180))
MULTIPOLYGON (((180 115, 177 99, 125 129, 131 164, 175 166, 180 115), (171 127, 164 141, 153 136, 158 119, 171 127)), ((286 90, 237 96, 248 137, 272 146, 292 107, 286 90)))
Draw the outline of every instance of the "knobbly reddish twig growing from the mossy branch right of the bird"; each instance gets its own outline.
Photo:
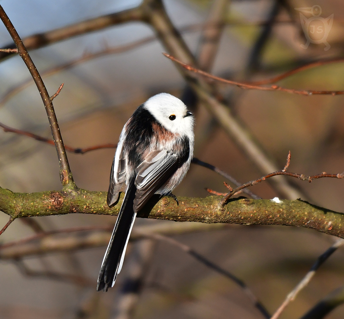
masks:
POLYGON ((246 187, 249 187, 249 186, 252 186, 252 185, 256 185, 256 184, 258 184, 258 183, 260 183, 262 181, 265 181, 266 179, 268 179, 270 177, 277 176, 277 175, 287 175, 287 176, 295 177, 295 178, 298 178, 298 179, 300 179, 302 181, 308 181, 308 182, 311 182, 313 179, 318 179, 318 178, 323 178, 323 177, 331 177, 331 178, 339 178, 339 179, 344 177, 344 172, 343 173, 337 173, 337 174, 328 174, 326 172, 322 172, 320 174, 313 175, 313 176, 307 176, 307 175, 304 175, 304 174, 297 174, 297 173, 286 172, 286 170, 288 169, 289 164, 290 164, 290 157, 291 157, 291 154, 290 154, 290 151, 289 151, 288 158, 287 158, 287 163, 286 163, 286 165, 284 166, 284 168, 282 170, 279 170, 279 171, 267 174, 265 176, 262 176, 261 178, 258 178, 256 180, 253 180, 253 181, 250 181, 250 182, 247 182, 245 184, 240 185, 239 187, 234 189, 232 192, 229 192, 226 196, 224 196, 224 198, 221 200, 221 205, 224 205, 228 201, 228 199, 230 197, 232 197, 238 191, 240 191, 240 190, 242 190, 242 189, 244 189, 246 187))

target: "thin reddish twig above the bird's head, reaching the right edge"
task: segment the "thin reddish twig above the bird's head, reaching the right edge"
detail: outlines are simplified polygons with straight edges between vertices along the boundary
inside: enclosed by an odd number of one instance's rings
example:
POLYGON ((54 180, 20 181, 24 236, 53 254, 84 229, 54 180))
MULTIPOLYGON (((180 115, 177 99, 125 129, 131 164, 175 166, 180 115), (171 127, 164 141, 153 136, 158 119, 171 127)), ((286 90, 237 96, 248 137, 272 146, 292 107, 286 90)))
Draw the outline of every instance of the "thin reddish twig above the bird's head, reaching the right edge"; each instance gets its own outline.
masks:
POLYGON ((224 79, 222 77, 218 77, 215 75, 212 75, 208 72, 202 71, 200 69, 197 69, 189 64, 186 64, 184 62, 181 62, 180 60, 177 60, 174 56, 168 54, 168 53, 163 53, 164 56, 168 57, 172 61, 180 64, 182 67, 184 67, 188 71, 192 71, 198 74, 201 74, 207 78, 211 78, 213 80, 226 83, 226 84, 232 84, 236 85, 240 88, 243 89, 255 89, 255 90, 262 90, 262 91, 281 91, 281 92, 287 92, 287 93, 293 93, 293 94, 300 94, 300 95, 342 95, 344 94, 344 91, 305 91, 305 90, 295 90, 295 89, 288 89, 284 88, 278 85, 271 85, 271 86, 260 86, 260 85, 254 85, 251 83, 246 83, 246 82, 236 82, 236 81, 231 81, 224 79))

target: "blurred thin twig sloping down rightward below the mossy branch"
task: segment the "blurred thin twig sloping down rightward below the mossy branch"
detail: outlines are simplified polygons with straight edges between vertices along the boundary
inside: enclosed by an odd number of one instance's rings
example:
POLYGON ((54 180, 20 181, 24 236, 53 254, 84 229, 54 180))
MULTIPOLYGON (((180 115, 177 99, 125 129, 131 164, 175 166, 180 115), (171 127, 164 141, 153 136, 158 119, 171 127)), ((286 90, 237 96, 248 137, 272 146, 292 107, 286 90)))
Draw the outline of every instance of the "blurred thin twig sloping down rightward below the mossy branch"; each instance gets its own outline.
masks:
POLYGON ((236 277, 232 273, 228 272, 226 269, 223 269, 222 267, 218 266, 217 264, 213 263, 209 259, 205 258, 201 254, 199 254, 196 251, 194 251, 191 247, 189 247, 189 246, 187 246, 185 244, 182 244, 182 243, 174 240, 171 237, 166 237, 166 236, 163 236, 163 235, 160 235, 160 234, 143 234, 143 235, 146 235, 149 238, 154 238, 156 240, 162 240, 162 241, 168 242, 168 243, 170 243, 170 244, 172 244, 174 246, 177 246, 177 247, 181 248, 184 252, 186 252, 187 254, 189 254, 192 257, 194 257, 196 260, 201 262, 203 265, 205 265, 205 266, 215 270, 217 273, 219 273, 221 275, 224 275, 225 277, 227 277, 230 280, 234 281, 234 283, 236 283, 238 286, 240 286, 243 289, 245 294, 252 301, 254 306, 262 313, 262 315, 265 318, 268 318, 268 319, 270 318, 269 312, 261 304, 261 302, 258 300, 258 298, 254 295, 252 290, 244 283, 244 281, 242 281, 241 279, 239 279, 238 277, 236 277))

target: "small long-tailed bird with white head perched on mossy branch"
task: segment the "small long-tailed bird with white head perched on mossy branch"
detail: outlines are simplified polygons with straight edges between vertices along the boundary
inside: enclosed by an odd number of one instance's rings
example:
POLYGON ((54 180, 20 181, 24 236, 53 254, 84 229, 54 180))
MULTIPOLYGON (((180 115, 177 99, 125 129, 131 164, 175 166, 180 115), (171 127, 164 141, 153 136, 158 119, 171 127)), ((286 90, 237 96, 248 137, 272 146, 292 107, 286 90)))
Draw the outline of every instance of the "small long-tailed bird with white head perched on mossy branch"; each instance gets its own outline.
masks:
POLYGON ((112 162, 109 207, 126 187, 101 264, 97 291, 115 285, 136 214, 153 194, 171 196, 189 170, 194 147, 194 116, 177 97, 160 93, 141 104, 124 125, 112 162))

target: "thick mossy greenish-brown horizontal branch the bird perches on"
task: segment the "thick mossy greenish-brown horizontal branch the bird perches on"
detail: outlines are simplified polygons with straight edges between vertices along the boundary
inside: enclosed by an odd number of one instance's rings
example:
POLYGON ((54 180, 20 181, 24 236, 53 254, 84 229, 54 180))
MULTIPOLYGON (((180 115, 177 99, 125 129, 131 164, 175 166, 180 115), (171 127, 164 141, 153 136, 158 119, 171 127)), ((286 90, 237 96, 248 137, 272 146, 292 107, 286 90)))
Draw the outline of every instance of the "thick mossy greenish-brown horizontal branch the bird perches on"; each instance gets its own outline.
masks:
MULTIPOLYGON (((87 190, 14 193, 0 188, 0 211, 12 218, 49 216, 69 213, 117 215, 123 200, 109 208, 106 192, 87 190)), ((344 238, 344 214, 301 200, 232 199, 223 208, 221 196, 206 198, 180 197, 179 206, 168 197, 154 195, 138 217, 201 223, 234 223, 246 225, 291 225, 344 238)))

